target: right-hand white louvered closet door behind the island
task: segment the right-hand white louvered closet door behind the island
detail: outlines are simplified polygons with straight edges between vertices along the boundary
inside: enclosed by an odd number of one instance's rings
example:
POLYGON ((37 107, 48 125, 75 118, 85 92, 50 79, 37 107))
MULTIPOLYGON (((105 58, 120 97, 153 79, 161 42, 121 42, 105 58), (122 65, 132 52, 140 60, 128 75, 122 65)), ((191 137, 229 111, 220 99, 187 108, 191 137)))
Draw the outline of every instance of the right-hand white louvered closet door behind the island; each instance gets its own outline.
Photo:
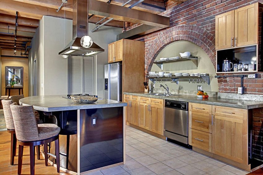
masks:
POLYGON ((94 95, 94 64, 93 57, 83 59, 83 84, 84 94, 94 95))

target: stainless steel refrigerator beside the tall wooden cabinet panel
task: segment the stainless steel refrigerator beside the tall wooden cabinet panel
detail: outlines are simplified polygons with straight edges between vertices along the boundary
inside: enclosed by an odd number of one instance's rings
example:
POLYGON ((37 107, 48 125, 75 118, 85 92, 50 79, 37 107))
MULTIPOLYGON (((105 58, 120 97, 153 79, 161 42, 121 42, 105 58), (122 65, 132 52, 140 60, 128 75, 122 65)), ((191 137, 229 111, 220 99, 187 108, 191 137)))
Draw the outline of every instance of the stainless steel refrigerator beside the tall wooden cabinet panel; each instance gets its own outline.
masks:
POLYGON ((122 101, 122 64, 104 65, 104 98, 122 101))

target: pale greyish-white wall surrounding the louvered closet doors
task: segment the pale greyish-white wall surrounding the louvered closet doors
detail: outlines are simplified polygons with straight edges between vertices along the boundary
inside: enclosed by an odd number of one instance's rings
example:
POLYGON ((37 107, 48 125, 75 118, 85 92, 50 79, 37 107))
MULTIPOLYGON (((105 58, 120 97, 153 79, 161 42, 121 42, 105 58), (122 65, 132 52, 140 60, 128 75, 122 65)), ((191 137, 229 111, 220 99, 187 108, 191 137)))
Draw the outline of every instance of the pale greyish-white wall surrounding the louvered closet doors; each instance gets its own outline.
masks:
MULTIPOLYGON (((116 41, 120 28, 103 26, 91 33, 94 24, 88 25, 93 42, 105 49, 97 55, 97 95, 104 96, 104 65, 108 63, 108 44, 116 41)), ((34 59, 37 59, 37 95, 67 94, 67 59, 58 55, 72 40, 72 20, 43 16, 32 39, 29 51, 29 96, 34 93, 34 59), (64 42, 65 40, 65 42, 64 42), (65 44, 64 44, 65 43, 65 44), (43 83, 43 88, 41 84, 43 83)), ((96 77, 95 77, 96 78, 96 77)))

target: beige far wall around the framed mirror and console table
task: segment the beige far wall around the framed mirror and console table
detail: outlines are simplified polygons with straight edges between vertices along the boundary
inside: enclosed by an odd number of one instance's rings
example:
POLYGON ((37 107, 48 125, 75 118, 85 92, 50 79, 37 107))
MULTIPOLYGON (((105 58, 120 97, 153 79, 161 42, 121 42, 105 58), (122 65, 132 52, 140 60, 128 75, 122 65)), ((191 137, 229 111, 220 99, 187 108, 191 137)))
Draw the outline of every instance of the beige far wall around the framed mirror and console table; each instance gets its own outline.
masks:
MULTIPOLYGON (((1 94, 5 95, 5 67, 6 66, 21 66, 24 67, 24 96, 28 97, 28 59, 27 58, 12 58, 12 57, 2 57, 1 65, 1 77, 2 77, 2 90, 1 94)), ((8 93, 8 92, 7 92, 8 93)), ((10 95, 18 95, 18 90, 11 90, 10 95)))

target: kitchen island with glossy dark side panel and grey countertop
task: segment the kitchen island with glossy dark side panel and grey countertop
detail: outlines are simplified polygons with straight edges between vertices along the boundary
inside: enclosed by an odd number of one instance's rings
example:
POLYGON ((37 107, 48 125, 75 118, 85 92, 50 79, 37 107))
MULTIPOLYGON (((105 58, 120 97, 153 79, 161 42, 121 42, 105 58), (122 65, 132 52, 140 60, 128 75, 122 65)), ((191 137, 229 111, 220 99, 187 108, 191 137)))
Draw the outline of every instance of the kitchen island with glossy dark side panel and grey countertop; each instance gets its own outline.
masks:
MULTIPOLYGON (((70 135, 68 168, 65 156, 60 156, 61 170, 80 174, 125 163, 123 107, 127 103, 99 99, 82 104, 62 95, 31 96, 20 99, 19 103, 33 105, 35 110, 49 117, 54 115, 61 130, 76 128, 77 134, 70 135)), ((60 152, 67 153, 65 135, 60 135, 59 144, 60 152)), ((51 153, 54 153, 53 148, 51 145, 51 153)), ((49 162, 55 165, 52 156, 49 162)))

